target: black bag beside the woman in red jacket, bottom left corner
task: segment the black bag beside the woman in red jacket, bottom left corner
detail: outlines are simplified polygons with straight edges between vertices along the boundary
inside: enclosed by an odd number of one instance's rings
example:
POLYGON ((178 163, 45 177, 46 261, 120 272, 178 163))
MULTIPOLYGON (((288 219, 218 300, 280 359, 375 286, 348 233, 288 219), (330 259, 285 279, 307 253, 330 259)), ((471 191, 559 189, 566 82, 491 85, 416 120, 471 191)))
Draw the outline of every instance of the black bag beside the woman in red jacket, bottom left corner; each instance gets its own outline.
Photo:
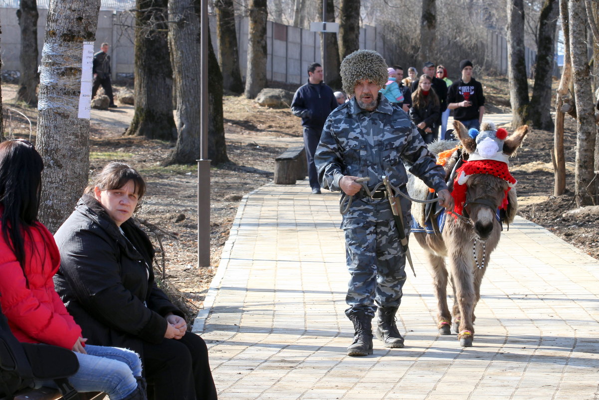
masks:
POLYGON ((78 399, 66 379, 78 369, 77 356, 71 350, 19 342, 0 310, 0 396, 13 399, 19 390, 40 387, 41 382, 53 380, 63 399, 78 399))

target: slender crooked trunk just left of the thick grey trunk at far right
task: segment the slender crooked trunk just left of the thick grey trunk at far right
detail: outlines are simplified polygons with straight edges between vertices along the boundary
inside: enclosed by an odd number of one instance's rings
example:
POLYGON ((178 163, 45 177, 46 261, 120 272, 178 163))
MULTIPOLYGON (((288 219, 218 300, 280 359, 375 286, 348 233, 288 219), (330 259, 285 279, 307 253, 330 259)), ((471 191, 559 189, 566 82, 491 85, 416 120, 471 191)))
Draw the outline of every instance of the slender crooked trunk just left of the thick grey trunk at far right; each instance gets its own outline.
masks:
POLYGON ((553 131, 553 195, 561 196, 565 190, 565 158, 564 158, 564 115, 561 107, 562 98, 568 94, 572 79, 572 63, 570 59, 570 28, 568 22, 568 0, 559 0, 559 16, 564 31, 564 67, 556 92, 555 131, 553 131))

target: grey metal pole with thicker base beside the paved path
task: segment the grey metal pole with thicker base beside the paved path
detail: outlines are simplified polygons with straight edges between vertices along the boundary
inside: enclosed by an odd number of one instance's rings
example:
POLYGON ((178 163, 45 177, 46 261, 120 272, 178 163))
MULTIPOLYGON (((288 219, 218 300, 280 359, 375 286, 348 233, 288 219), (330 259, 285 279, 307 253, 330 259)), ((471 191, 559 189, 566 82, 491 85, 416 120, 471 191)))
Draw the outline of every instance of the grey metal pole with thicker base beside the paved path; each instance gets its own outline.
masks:
POLYGON ((201 0, 201 71, 198 160, 198 267, 210 266, 210 160, 208 158, 208 0, 201 0))

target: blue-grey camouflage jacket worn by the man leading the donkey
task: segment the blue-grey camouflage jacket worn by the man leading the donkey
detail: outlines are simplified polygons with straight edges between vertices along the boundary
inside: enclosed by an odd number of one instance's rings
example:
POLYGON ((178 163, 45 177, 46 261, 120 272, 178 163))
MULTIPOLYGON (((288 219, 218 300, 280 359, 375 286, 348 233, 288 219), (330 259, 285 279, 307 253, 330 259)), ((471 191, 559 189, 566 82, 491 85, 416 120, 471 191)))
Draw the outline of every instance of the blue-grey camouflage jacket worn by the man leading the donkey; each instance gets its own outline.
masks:
POLYGON ((443 167, 436 164, 409 116, 380 95, 373 112, 362 110, 355 98, 331 112, 314 163, 320 185, 331 191, 341 190, 339 180, 344 175, 370 177, 370 190, 386 175, 392 185, 406 193, 404 163, 428 187, 447 189, 443 167))

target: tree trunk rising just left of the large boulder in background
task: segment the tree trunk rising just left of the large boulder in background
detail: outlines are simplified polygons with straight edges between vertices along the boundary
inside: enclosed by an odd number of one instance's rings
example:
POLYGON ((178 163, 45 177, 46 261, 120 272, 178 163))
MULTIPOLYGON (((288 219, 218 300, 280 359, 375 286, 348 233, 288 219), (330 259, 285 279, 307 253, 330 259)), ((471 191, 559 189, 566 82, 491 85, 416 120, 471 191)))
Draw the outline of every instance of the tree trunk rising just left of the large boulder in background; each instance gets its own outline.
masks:
POLYGON ((250 0, 249 43, 247 44, 246 98, 255 98, 267 87, 266 0, 250 0))

